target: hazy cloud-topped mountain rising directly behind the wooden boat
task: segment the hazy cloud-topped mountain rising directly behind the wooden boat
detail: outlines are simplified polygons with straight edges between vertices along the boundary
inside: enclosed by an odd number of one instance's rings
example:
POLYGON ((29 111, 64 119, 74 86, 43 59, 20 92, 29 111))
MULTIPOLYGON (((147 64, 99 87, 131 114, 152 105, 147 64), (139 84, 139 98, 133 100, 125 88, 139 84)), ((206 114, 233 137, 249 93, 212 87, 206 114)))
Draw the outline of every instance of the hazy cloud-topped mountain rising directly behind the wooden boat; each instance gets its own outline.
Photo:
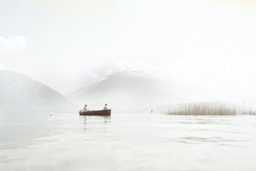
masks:
POLYGON ((82 106, 94 105, 93 109, 102 108, 105 103, 113 109, 136 111, 159 103, 169 103, 173 99, 166 85, 154 79, 116 73, 97 85, 80 88, 65 94, 72 102, 82 106))

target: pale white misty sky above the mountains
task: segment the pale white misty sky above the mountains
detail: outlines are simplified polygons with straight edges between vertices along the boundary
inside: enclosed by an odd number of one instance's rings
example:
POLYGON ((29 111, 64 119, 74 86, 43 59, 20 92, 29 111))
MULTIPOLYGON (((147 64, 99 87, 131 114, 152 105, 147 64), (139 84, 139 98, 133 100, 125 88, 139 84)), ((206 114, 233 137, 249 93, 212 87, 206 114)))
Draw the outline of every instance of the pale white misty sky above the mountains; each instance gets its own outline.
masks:
POLYGON ((0 0, 0 69, 61 93, 136 70, 252 100, 255 65, 255 0, 0 0))

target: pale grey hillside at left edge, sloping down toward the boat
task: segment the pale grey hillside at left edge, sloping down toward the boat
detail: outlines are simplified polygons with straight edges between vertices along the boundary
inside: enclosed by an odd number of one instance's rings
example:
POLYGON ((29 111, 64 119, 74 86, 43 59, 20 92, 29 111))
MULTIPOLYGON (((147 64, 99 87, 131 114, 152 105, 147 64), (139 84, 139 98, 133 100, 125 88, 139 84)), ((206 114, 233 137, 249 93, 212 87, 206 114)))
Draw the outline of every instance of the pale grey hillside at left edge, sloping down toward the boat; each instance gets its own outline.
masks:
POLYGON ((0 71, 0 106, 18 109, 69 110, 74 109, 72 102, 61 93, 31 79, 13 72, 0 71))

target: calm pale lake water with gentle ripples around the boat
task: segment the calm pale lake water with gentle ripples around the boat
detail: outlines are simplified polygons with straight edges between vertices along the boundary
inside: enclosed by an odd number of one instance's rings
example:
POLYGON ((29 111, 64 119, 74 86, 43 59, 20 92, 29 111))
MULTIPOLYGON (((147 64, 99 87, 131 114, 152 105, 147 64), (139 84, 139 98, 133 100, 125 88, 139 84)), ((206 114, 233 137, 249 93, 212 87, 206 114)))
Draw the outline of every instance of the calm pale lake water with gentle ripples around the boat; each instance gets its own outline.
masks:
POLYGON ((256 171, 256 115, 0 114, 0 171, 256 171))

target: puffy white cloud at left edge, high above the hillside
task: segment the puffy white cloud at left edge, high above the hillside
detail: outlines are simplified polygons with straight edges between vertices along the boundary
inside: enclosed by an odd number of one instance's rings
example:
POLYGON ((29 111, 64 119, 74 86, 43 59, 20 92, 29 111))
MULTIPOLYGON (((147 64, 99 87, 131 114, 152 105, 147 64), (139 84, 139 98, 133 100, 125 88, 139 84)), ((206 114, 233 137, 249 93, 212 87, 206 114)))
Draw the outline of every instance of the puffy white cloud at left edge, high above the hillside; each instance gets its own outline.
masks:
POLYGON ((26 48, 26 38, 23 36, 0 36, 0 54, 11 55, 24 51, 26 48))

